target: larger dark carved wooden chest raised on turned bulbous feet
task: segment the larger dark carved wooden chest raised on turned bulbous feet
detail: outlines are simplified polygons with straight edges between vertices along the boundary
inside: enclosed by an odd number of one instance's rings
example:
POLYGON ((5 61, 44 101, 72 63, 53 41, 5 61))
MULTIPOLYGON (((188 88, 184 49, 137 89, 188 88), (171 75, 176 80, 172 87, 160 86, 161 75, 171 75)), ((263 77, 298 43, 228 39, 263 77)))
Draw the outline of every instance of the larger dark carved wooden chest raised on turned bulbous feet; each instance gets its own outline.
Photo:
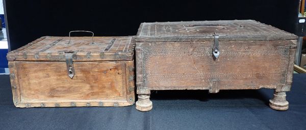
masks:
POLYGON ((287 110, 297 37, 254 20, 142 23, 136 36, 136 109, 150 90, 275 89, 287 110))

